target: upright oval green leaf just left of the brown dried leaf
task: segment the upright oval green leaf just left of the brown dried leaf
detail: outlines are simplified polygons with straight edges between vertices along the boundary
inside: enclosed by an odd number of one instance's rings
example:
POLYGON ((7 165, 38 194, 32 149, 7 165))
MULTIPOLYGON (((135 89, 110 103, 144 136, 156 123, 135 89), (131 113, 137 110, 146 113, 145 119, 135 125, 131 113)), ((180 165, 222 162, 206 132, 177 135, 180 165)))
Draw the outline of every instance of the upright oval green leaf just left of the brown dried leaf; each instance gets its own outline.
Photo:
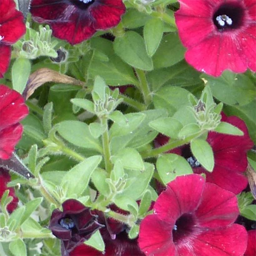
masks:
POLYGON ((12 65, 12 88, 22 94, 31 71, 28 59, 18 58, 12 65))

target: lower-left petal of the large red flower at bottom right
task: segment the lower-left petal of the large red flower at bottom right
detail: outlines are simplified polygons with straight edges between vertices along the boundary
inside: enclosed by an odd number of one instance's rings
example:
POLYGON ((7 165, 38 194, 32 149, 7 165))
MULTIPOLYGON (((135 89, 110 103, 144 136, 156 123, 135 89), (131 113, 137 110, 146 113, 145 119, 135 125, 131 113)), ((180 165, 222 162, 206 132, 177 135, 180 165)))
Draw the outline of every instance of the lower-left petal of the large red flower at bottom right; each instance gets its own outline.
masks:
POLYGON ((174 255, 173 225, 161 221, 156 214, 146 216, 140 224, 138 243, 146 255, 174 255))

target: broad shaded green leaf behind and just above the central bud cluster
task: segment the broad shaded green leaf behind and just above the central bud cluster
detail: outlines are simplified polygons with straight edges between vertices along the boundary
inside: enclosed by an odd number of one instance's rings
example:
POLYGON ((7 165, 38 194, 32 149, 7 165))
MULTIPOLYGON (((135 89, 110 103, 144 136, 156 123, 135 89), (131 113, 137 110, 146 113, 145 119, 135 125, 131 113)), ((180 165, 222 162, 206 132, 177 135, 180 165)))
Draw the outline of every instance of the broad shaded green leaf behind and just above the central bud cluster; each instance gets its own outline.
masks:
POLYGON ((132 67, 115 54, 111 41, 93 37, 90 42, 93 49, 103 52, 109 58, 108 62, 102 62, 97 57, 92 57, 88 68, 89 76, 92 79, 99 75, 106 81, 106 84, 115 86, 138 83, 132 67))

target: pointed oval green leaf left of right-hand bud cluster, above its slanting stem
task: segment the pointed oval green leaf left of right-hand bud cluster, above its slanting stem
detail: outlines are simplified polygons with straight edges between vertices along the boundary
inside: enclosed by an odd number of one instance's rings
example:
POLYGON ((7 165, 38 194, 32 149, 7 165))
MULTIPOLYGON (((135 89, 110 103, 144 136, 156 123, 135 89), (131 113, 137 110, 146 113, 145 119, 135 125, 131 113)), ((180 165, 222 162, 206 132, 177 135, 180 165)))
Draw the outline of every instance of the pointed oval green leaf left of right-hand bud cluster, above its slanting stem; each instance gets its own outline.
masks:
POLYGON ((182 124, 178 120, 171 117, 158 118, 151 121, 149 126, 171 138, 178 138, 179 131, 182 128, 182 124))

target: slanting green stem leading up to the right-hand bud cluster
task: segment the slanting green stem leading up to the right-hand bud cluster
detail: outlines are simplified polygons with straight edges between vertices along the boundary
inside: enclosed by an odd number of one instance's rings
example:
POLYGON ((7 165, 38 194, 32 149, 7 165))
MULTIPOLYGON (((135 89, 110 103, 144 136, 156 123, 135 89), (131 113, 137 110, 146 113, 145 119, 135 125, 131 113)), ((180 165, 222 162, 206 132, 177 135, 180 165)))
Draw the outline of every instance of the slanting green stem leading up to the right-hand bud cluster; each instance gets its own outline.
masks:
POLYGON ((155 148, 152 150, 146 150, 146 151, 142 151, 140 153, 140 155, 143 158, 149 158, 149 157, 157 157, 159 154, 164 153, 166 151, 172 150, 174 148, 180 147, 184 144, 187 144, 190 142, 190 140, 199 137, 200 135, 202 135, 205 131, 199 131, 191 136, 186 137, 184 140, 170 140, 167 144, 159 147, 159 148, 155 148))

